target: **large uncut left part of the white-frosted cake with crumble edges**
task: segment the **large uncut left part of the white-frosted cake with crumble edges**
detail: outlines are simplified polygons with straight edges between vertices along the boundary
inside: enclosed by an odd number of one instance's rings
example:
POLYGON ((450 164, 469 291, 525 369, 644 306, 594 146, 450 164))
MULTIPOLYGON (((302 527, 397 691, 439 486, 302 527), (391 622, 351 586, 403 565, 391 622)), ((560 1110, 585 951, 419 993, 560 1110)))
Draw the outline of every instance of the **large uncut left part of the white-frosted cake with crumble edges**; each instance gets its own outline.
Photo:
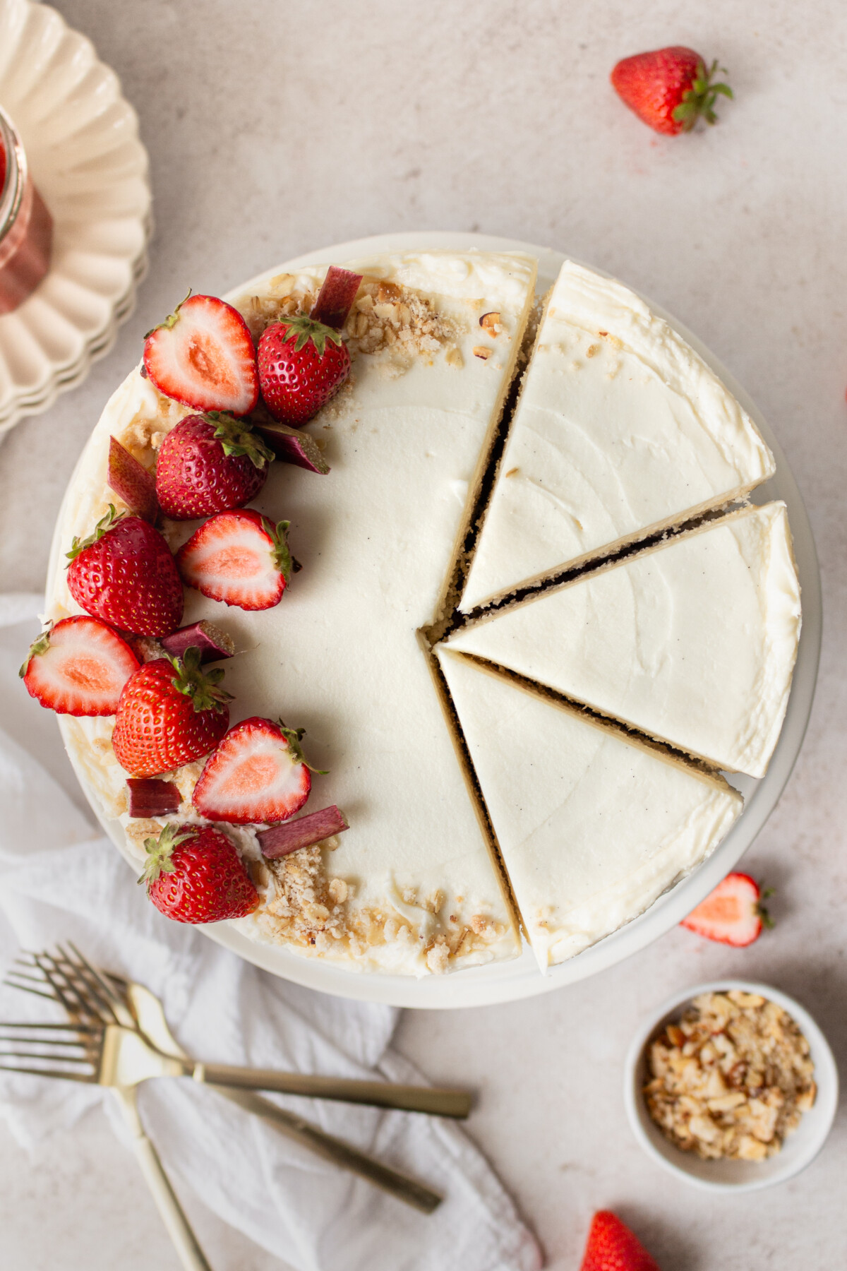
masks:
MULTIPOLYGON (((353 372, 309 426, 330 473, 274 464, 255 501, 274 520, 291 520, 302 571, 269 611, 187 592, 184 622, 212 619, 235 638, 241 652, 225 681, 232 721, 282 716, 305 727, 310 763, 329 769, 315 777, 310 807, 337 803, 350 826, 337 843, 257 862, 264 900, 241 928, 354 970, 420 975, 521 947, 417 629, 443 605, 514 372, 535 261, 429 252, 343 263, 366 276, 345 330, 353 372), (491 313, 497 323, 481 325, 491 313)), ((309 310, 324 273, 283 269, 241 295, 254 336, 279 314, 309 310)), ((187 413, 131 374, 69 496, 69 543, 114 500, 105 488, 109 435, 151 466, 161 436, 187 413)), ((193 527, 171 525, 171 544, 193 527)), ((61 578, 53 613, 75 609, 61 578)), ((137 845, 150 830, 123 811, 126 774, 109 731, 110 721, 65 724, 103 810, 121 815, 137 845)), ((178 774, 184 793, 198 770, 178 774)), ((258 858, 251 831, 234 836, 258 858)))

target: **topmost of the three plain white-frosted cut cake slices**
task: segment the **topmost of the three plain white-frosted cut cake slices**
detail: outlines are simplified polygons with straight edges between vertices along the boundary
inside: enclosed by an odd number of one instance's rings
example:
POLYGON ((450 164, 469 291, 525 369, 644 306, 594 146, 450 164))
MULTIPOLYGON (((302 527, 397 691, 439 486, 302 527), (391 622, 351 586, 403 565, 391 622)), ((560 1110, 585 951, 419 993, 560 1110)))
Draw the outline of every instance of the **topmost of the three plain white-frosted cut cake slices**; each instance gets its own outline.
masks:
POLYGON ((752 419, 634 292, 571 261, 549 299, 461 609, 772 477, 752 419))

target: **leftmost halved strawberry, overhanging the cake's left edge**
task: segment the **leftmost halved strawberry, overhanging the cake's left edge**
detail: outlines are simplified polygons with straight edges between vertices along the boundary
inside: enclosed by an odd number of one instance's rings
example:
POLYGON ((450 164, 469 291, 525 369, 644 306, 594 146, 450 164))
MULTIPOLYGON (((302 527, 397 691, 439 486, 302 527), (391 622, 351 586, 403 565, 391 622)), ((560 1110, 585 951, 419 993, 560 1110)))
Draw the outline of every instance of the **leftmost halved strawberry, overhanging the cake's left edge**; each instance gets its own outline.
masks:
POLYGON ((102 716, 118 709, 138 660, 98 618, 63 618, 29 648, 20 677, 30 698, 56 714, 102 716))

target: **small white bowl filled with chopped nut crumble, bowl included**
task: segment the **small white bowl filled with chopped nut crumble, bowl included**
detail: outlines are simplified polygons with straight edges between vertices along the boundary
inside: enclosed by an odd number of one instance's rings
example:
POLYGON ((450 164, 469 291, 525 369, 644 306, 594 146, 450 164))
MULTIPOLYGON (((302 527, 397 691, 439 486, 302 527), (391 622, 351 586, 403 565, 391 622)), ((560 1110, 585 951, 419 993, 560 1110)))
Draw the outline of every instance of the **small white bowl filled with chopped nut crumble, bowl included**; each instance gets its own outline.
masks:
POLYGON ((766 984, 716 980, 665 1002, 626 1056, 635 1138, 709 1191, 758 1191, 805 1169, 838 1104, 838 1069, 799 1002, 766 984))

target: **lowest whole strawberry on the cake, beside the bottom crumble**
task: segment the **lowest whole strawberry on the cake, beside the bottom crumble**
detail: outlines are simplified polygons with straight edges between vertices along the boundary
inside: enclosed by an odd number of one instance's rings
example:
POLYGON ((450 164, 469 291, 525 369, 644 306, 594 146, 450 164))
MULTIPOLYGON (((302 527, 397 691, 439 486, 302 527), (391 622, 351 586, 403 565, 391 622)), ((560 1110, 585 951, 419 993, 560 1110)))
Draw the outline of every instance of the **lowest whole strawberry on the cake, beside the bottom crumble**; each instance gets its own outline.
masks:
POLYGON ((235 846, 211 826, 169 822, 146 839, 147 862, 138 882, 160 914, 175 923, 222 923, 246 918, 259 894, 235 846))

